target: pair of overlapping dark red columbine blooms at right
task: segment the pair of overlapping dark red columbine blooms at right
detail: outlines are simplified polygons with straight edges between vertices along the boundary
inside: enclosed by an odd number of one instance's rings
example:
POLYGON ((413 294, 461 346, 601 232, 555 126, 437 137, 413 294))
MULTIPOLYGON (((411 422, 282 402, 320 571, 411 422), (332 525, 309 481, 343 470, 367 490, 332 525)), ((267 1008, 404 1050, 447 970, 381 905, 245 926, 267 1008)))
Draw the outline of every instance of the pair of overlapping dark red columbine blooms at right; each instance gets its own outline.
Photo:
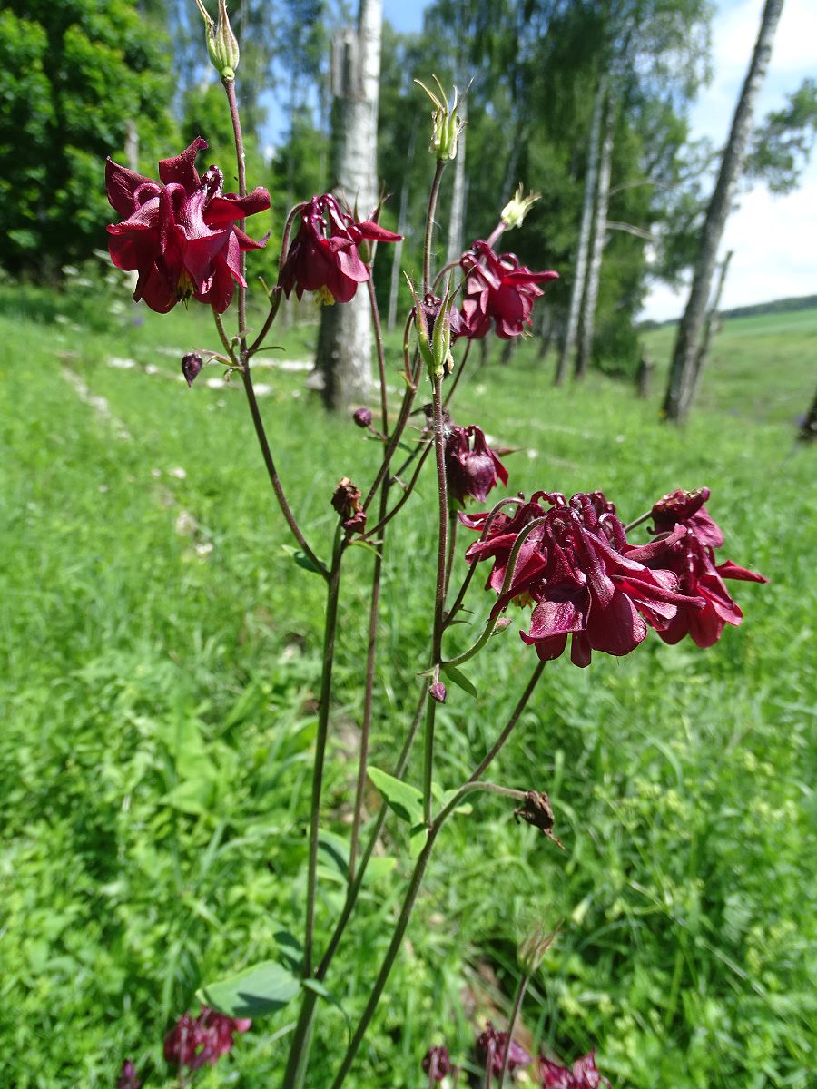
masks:
POLYGON ((542 661, 559 658, 569 638, 576 665, 589 665, 594 650, 629 654, 648 627, 668 643, 690 632, 699 646, 709 646, 724 622, 740 623, 721 576, 765 579, 731 563, 715 567, 707 543, 715 524, 700 514, 697 523, 683 521, 700 511, 703 500, 692 513, 682 506, 680 514, 669 497, 662 503, 657 504, 660 531, 649 544, 637 546, 627 541, 603 492, 568 501, 560 492, 539 491, 515 513, 499 513, 490 522, 487 513, 461 514, 470 528, 487 527, 466 559, 493 561, 487 584, 500 595, 493 615, 514 600, 533 603, 529 628, 520 634, 542 661))

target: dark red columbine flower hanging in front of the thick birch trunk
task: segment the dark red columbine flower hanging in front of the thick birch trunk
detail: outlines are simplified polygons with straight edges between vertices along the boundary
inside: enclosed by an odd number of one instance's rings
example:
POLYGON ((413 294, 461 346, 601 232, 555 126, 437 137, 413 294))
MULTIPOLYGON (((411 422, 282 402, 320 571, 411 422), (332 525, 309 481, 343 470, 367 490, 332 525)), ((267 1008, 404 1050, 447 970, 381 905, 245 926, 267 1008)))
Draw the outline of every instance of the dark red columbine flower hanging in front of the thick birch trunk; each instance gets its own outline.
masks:
POLYGON ((370 220, 355 222, 352 213, 330 193, 313 197, 301 211, 295 235, 281 269, 281 286, 289 298, 319 291, 326 302, 347 303, 358 283, 369 278, 357 252, 362 242, 400 242, 402 235, 370 220))

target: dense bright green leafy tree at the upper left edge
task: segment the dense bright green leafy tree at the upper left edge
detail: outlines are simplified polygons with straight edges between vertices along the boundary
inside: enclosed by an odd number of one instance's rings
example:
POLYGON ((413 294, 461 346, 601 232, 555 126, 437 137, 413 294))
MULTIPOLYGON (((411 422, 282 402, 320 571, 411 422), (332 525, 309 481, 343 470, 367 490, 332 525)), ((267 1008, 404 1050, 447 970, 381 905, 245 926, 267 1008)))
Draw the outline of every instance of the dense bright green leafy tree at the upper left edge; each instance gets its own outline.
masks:
POLYGON ((105 157, 124 160, 127 124, 154 167, 172 132, 161 28, 131 0, 0 12, 0 233, 3 264, 39 277, 87 257, 110 209, 105 157))

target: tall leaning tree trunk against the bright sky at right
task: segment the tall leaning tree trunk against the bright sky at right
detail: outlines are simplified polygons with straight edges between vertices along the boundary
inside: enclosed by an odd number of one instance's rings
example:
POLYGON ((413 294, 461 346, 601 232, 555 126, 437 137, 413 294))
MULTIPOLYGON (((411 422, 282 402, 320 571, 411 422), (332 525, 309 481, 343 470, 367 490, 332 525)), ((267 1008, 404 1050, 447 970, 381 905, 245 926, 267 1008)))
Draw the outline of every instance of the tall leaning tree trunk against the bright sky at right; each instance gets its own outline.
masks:
POLYGON ((663 402, 664 417, 676 423, 683 423, 686 419, 692 403, 695 386, 695 362, 711 291, 718 247, 743 167, 755 100, 769 65, 771 42, 782 8, 783 0, 766 0, 755 51, 752 54, 752 62, 732 118, 732 129, 721 159, 720 173, 707 208, 690 298, 678 327, 670 378, 663 402))

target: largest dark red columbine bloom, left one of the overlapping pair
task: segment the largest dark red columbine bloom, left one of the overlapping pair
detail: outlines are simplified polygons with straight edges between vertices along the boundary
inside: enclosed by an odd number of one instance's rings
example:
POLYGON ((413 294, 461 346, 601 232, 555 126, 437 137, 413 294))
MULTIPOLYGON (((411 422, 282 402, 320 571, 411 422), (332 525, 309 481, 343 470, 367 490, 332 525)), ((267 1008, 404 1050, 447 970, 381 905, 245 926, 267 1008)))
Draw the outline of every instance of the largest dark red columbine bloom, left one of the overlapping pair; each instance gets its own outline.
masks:
MULTIPOLYGON (((705 604, 679 592, 679 578, 663 562, 683 528, 635 547, 614 511, 602 492, 578 493, 570 503, 559 492, 536 492, 513 515, 499 514, 486 540, 465 553, 470 563, 493 560, 488 586, 500 592, 493 615, 514 599, 534 602, 531 628, 520 634, 542 661, 559 658, 569 637, 575 665, 589 665, 593 650, 629 654, 647 625, 662 632, 680 607, 705 604), (501 594, 516 538, 536 519, 541 524, 524 538, 511 585, 501 594)), ((481 529, 487 515, 460 517, 481 529)))

